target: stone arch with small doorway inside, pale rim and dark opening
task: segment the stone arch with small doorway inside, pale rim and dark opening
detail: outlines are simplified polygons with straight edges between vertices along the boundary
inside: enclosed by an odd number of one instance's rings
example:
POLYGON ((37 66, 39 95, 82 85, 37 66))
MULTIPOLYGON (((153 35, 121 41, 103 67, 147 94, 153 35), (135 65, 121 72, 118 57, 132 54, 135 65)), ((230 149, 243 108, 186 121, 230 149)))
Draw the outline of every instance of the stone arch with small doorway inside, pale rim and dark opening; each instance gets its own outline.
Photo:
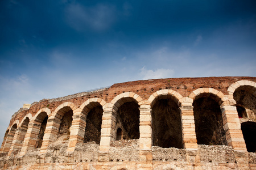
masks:
MULTIPOLYGON (((121 127, 123 139, 139 139, 139 105, 142 98, 134 92, 125 92, 114 97, 109 103, 110 111, 116 122, 114 125, 114 139, 117 137, 117 129, 121 127)), ((108 110, 108 109, 104 109, 108 110)))

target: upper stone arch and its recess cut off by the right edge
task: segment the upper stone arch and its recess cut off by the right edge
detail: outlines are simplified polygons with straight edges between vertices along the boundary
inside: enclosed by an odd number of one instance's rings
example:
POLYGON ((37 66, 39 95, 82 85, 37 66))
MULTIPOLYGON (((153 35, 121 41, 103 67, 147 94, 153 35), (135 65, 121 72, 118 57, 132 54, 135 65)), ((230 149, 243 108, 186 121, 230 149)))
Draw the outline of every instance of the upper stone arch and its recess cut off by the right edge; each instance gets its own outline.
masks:
POLYGON ((240 80, 228 88, 229 95, 236 101, 240 118, 256 118, 256 83, 240 80), (243 110, 243 113, 240 113, 243 110))

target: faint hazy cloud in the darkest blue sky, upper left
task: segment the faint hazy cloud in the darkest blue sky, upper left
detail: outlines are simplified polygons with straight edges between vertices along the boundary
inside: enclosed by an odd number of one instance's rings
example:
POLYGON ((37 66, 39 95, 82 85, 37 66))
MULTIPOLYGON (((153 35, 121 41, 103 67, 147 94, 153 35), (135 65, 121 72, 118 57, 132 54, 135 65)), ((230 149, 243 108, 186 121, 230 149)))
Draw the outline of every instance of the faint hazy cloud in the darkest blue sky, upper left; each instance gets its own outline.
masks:
POLYGON ((102 31, 108 29, 114 22, 114 7, 98 4, 93 7, 85 7, 79 3, 67 7, 67 22, 77 31, 90 29, 102 31))

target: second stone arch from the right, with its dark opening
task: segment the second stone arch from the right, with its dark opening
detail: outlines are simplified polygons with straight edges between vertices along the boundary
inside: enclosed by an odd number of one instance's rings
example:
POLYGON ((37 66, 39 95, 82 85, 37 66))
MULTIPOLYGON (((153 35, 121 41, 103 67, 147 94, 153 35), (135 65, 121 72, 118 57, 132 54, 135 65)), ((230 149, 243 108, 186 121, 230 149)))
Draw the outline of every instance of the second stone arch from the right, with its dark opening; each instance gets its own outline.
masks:
POLYGON ((199 88, 189 98, 193 99, 196 138, 200 145, 227 145, 221 105, 226 98, 213 88, 199 88))

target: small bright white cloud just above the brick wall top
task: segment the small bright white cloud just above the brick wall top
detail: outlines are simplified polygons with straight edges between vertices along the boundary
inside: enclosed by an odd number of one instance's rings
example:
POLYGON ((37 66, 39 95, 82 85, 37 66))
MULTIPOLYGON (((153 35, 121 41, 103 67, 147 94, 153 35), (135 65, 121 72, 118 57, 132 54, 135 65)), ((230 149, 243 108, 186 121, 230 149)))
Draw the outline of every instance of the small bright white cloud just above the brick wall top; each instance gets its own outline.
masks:
POLYGON ((174 75, 174 70, 172 69, 156 69, 156 70, 147 70, 146 67, 142 67, 139 75, 142 76, 142 79, 159 79, 159 78, 171 78, 174 75))

